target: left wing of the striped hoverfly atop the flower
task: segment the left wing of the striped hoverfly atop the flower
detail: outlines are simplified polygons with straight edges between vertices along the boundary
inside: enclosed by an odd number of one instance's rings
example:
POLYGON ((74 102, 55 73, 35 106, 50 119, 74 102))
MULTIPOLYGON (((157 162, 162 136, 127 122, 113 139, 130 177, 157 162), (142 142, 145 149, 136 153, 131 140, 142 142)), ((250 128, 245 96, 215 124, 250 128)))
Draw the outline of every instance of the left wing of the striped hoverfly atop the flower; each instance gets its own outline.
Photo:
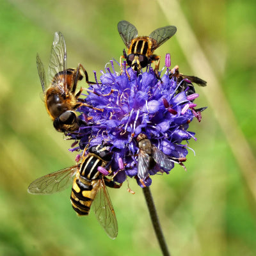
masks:
POLYGON ((127 48, 130 47, 133 38, 138 36, 137 29, 128 21, 121 20, 117 25, 118 32, 127 48))

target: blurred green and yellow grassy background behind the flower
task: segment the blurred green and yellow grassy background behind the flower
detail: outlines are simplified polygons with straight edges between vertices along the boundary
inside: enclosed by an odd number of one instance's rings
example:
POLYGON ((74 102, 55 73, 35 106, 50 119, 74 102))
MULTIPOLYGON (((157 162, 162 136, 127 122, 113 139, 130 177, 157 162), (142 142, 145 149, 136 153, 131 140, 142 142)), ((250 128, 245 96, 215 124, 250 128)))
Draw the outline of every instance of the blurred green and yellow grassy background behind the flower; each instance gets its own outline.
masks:
POLYGON ((76 155, 68 152, 70 141, 54 131, 40 99, 36 52, 47 65, 54 32, 61 31, 68 67, 80 62, 92 79, 93 70, 99 77, 105 63, 122 54, 116 25, 123 19, 140 35, 177 26, 177 34, 156 53, 170 52, 172 67, 208 82, 197 88, 198 106, 209 108, 189 129, 198 140, 189 144, 196 156, 189 152, 188 172, 177 166, 170 175, 153 177, 170 252, 256 255, 255 5, 237 0, 1 0, 0 255, 161 255, 134 180, 129 184, 135 195, 127 193, 126 183, 109 189, 119 225, 115 241, 93 212, 76 216, 70 189, 49 196, 27 193, 32 180, 71 166, 76 155))

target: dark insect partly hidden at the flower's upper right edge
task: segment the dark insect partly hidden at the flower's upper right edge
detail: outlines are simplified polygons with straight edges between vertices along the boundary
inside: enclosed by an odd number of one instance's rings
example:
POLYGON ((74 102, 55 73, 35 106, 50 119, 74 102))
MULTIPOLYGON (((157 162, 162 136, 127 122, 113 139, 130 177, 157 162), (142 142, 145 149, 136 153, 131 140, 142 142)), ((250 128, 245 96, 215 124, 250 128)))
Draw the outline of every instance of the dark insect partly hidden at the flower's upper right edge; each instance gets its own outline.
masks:
POLYGON ((176 93, 185 92, 186 95, 191 95, 193 93, 196 93, 195 87, 192 83, 198 84, 198 86, 206 86, 207 82, 203 79, 196 77, 196 76, 185 76, 183 74, 180 74, 179 72, 179 66, 175 66, 171 70, 170 79, 172 77, 176 77, 177 84, 179 84, 179 88, 177 89, 176 93))

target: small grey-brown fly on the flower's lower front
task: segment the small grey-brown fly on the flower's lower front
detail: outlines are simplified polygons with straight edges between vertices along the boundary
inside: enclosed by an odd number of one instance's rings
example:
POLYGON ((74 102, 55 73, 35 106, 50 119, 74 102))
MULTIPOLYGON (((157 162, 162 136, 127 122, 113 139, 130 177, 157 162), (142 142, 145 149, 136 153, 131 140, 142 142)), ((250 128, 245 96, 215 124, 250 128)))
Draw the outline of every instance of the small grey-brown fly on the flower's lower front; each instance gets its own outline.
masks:
POLYGON ((178 163, 185 168, 182 162, 186 161, 186 157, 176 158, 167 156, 148 140, 146 134, 140 133, 136 139, 139 147, 138 177, 142 184, 143 180, 147 178, 149 170, 154 168, 156 164, 159 164, 159 166, 168 170, 173 168, 174 163, 178 163))

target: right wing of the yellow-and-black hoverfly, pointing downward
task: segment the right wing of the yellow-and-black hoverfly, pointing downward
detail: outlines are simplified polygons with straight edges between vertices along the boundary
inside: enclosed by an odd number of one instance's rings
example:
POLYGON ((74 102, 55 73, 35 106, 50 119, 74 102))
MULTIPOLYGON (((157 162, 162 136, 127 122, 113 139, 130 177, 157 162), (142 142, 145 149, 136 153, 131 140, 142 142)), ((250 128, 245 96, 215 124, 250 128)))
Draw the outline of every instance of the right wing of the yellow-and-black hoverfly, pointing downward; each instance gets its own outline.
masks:
POLYGON ((99 190, 92 207, 102 228, 111 239, 115 239, 118 233, 116 214, 103 179, 100 180, 99 190))

